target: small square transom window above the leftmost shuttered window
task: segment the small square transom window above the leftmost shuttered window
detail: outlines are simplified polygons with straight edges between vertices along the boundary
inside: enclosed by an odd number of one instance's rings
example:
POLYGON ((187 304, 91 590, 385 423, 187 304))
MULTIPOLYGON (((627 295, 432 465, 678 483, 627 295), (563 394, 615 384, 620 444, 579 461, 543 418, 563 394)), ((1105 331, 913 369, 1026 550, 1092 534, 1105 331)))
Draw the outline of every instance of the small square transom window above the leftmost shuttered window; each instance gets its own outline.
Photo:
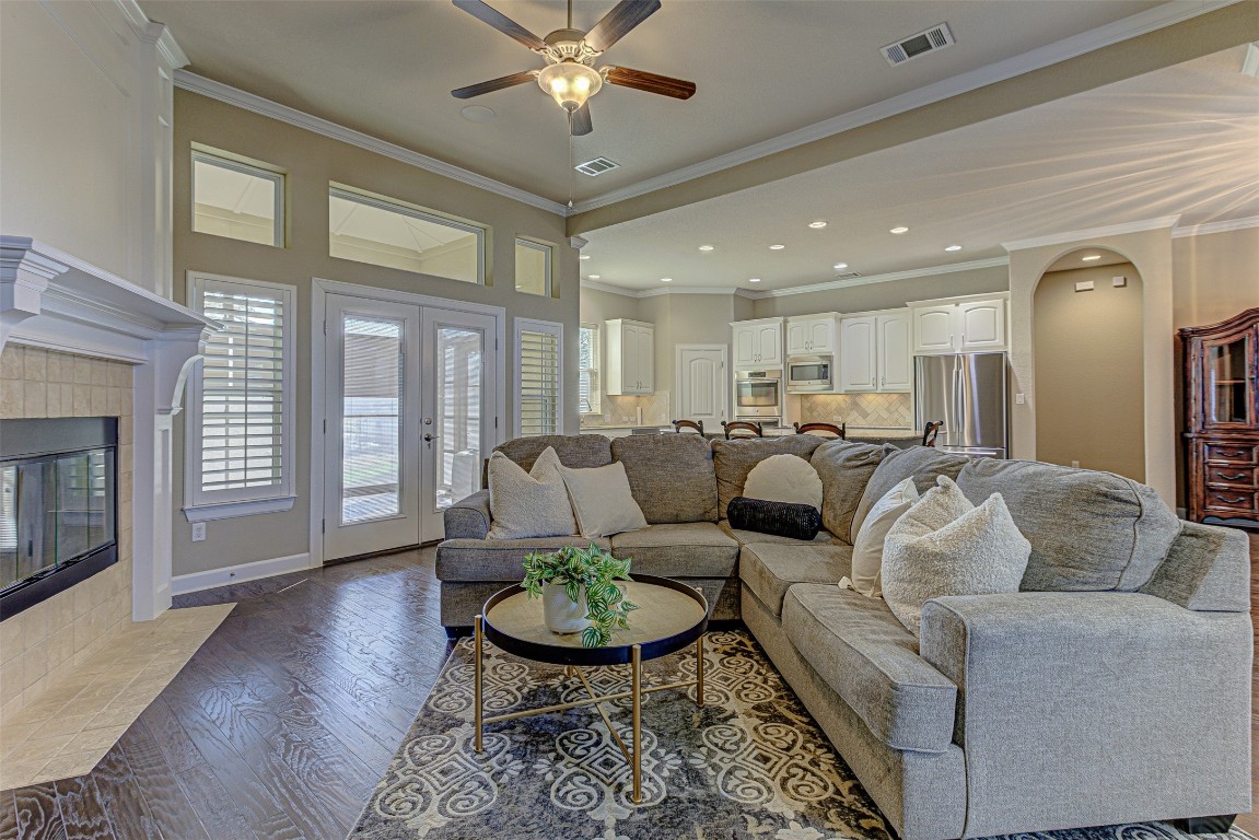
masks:
POLYGON ((285 247, 283 174, 194 149, 193 230, 285 247))

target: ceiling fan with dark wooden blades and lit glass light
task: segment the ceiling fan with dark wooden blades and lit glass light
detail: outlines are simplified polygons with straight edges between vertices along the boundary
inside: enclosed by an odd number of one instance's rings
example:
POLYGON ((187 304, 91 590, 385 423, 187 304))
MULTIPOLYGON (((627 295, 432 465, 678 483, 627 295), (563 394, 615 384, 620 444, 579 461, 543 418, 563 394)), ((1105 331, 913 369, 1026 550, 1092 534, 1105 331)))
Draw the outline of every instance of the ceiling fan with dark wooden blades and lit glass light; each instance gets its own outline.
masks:
POLYGON ((621 0, 612 11, 594 24, 590 31, 573 29, 573 0, 568 0, 568 26, 556 29, 546 38, 539 38, 482 0, 453 0, 453 3, 477 20, 490 24, 546 59, 546 67, 538 71, 512 73, 451 91, 451 96, 457 99, 470 99, 491 91, 536 81, 543 91, 568 111, 569 133, 582 136, 594 131, 587 99, 598 93, 604 82, 671 96, 676 99, 689 99, 695 94, 694 82, 633 71, 628 67, 594 67, 599 55, 660 9, 660 0, 621 0))

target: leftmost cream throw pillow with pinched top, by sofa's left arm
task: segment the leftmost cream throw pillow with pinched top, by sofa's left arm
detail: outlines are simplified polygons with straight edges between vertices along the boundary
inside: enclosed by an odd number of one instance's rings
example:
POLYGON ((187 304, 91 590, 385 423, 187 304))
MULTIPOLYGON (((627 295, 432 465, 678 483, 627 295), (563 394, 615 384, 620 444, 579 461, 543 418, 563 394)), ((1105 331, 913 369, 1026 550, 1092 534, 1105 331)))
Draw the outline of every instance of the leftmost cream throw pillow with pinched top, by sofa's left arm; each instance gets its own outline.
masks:
POLYGON ((486 539, 568 536, 577 533, 573 505, 559 476, 555 450, 546 447, 525 472, 502 452, 490 456, 490 516, 486 539))

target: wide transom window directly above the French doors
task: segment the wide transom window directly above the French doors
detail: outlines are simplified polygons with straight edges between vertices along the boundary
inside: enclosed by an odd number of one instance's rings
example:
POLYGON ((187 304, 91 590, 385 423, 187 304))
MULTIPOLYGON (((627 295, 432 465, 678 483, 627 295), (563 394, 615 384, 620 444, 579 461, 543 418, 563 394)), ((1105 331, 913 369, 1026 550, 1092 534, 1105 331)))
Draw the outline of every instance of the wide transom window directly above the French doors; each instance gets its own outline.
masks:
POLYGON ((485 283, 485 228, 336 184, 327 195, 329 256, 485 283))

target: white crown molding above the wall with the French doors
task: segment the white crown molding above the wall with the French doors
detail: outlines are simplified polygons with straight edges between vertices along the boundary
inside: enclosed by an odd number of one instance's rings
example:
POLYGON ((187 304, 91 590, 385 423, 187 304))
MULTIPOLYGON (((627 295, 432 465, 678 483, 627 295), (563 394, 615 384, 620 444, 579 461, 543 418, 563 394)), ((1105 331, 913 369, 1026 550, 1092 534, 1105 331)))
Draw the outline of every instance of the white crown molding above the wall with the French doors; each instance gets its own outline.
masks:
POLYGON ((546 210, 548 213, 554 213, 555 215, 562 217, 569 214, 568 207, 560 204, 559 201, 551 201, 550 199, 534 195, 533 193, 511 186, 510 184, 496 181, 492 178, 486 178, 485 175, 478 175, 477 173, 461 166, 447 164, 446 161, 437 160, 436 157, 429 157, 428 155, 422 155, 418 151, 404 149, 403 146, 380 140, 379 137, 373 137, 371 135, 363 133, 361 131, 346 128, 345 126, 337 125, 330 120, 316 117, 311 113, 306 113, 305 111, 298 111, 297 108, 290 108, 287 105, 279 105, 278 102, 264 99, 261 96, 234 88, 230 84, 223 84, 222 82, 208 79, 204 76, 198 76, 196 73, 175 71, 175 87, 193 93, 200 93, 201 96, 212 99, 217 99, 264 117, 271 117, 272 120, 278 120, 279 122, 286 122, 298 128, 305 128, 312 133, 330 137, 331 140, 339 140, 344 144, 358 146, 359 149, 365 149, 385 157, 392 157, 393 160, 415 166, 417 169, 423 169, 436 175, 442 175, 443 178, 460 181, 461 184, 467 184, 468 186, 475 186, 514 201, 535 207, 539 210, 546 210))

